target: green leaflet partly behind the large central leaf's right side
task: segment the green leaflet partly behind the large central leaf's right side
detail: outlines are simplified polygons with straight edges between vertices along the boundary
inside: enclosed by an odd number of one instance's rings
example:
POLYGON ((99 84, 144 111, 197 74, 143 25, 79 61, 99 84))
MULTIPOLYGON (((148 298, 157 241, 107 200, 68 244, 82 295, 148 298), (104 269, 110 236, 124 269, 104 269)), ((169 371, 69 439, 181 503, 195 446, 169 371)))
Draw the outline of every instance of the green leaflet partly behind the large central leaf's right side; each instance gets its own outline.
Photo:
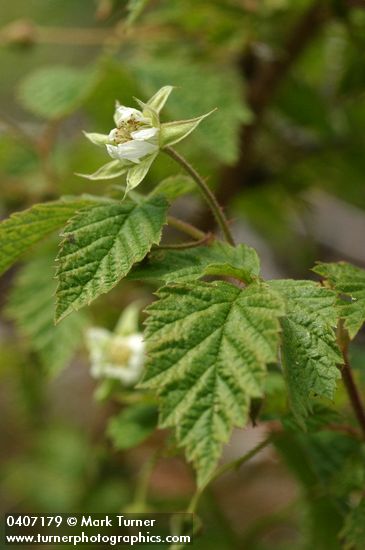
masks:
POLYGON ((333 399, 342 357, 336 343, 336 295, 312 281, 270 281, 286 302, 282 362, 290 404, 303 423, 313 396, 333 399))

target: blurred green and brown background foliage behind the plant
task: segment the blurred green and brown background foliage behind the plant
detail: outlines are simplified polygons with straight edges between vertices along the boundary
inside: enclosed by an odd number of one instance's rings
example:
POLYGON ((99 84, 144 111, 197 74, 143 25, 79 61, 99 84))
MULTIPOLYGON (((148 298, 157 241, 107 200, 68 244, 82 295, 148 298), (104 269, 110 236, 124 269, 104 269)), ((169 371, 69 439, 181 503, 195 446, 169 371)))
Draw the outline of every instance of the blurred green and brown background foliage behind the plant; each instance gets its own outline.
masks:
MULTIPOLYGON (((112 192, 75 175, 107 160, 82 130, 107 132, 115 100, 130 105, 173 84, 166 120, 218 107, 181 150, 209 177, 238 240, 258 249, 264 276, 311 277, 315 260, 365 266, 364 51, 362 0, 3 0, 0 216, 112 192)), ((143 185, 174 174, 159 158, 143 185)), ((213 229, 195 194, 174 211, 213 229)), ((95 400, 83 346, 86 326, 112 329, 154 288, 123 282, 55 328, 56 246, 36 248, 0 282, 4 510, 184 509, 193 476, 169 434, 151 435, 155 403, 111 383, 95 400)), ((351 354, 364 390, 364 334, 351 354)), ((267 396, 262 429, 281 420, 286 432, 208 491, 199 548, 364 548, 353 516, 343 527, 365 483, 343 391, 299 434, 275 368, 267 396)), ((225 459, 260 430, 237 430, 225 459)))

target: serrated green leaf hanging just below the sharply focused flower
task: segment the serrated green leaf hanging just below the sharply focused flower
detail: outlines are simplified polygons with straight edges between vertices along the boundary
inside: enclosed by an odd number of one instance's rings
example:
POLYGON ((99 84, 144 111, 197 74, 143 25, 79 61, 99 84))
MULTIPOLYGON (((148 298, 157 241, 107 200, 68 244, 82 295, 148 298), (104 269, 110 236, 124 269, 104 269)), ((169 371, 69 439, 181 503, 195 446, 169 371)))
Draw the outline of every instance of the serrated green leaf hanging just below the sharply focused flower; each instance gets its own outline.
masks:
POLYGON ((168 203, 104 201, 72 218, 57 257, 56 320, 111 290, 160 241, 168 203))

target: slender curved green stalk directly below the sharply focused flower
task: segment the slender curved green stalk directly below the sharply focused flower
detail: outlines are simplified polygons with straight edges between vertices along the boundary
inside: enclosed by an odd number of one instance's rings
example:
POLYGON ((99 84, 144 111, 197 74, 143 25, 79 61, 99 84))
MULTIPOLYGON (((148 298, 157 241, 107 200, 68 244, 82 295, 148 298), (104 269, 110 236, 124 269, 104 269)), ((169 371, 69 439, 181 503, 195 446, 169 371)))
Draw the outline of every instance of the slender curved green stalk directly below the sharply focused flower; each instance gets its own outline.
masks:
POLYGON ((186 172, 190 174, 190 176, 196 182, 209 208, 213 212, 214 217, 217 220, 217 223, 221 228, 226 241, 232 246, 234 246, 235 244, 234 239, 233 239, 231 230, 229 228, 228 221, 223 213, 223 210, 221 206, 218 204, 218 201, 215 198, 215 195, 209 189, 208 185, 205 183, 203 178, 198 174, 195 168, 193 168, 193 166, 191 166, 191 164, 183 156, 181 156, 177 151, 175 151, 175 149, 173 149, 172 147, 165 147, 163 151, 165 151, 167 155, 169 155, 178 164, 180 164, 184 168, 184 170, 186 170, 186 172))

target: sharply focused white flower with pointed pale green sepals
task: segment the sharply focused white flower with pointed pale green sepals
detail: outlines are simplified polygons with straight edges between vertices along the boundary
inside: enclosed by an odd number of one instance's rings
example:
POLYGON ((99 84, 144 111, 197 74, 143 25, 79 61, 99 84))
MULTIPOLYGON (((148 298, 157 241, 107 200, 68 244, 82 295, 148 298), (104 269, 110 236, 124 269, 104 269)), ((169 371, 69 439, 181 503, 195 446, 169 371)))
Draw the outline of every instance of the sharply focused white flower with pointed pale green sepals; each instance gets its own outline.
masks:
POLYGON ((161 123, 160 112, 173 86, 164 86, 147 103, 136 99, 140 109, 116 104, 115 128, 109 134, 85 133, 95 145, 106 148, 112 161, 94 174, 78 174, 92 180, 112 179, 126 174, 125 195, 145 178, 159 151, 186 138, 205 115, 174 122, 161 123))

